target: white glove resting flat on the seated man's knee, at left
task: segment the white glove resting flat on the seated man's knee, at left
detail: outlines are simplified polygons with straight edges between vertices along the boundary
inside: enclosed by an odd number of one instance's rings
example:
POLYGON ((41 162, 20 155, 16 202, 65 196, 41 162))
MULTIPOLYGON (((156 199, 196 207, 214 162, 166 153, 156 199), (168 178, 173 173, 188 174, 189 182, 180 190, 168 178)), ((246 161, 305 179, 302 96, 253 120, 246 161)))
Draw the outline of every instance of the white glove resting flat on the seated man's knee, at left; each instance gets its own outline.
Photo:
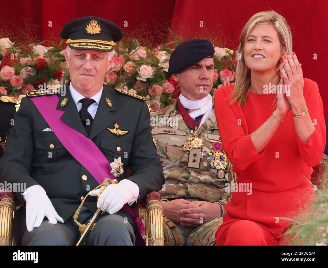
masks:
POLYGON ((57 220, 64 223, 51 204, 46 191, 40 185, 27 188, 23 198, 26 202, 26 228, 29 232, 33 230, 33 227, 41 225, 44 216, 48 218, 49 223, 56 224, 57 220))

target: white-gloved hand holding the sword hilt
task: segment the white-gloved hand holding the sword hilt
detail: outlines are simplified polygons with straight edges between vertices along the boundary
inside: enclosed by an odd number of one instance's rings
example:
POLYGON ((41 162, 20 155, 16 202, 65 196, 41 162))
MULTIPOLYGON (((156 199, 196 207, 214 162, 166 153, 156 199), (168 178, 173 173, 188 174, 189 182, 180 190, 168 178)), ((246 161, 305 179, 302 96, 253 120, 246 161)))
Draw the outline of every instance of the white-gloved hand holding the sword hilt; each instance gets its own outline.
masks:
MULTIPOLYGON (((97 196, 100 189, 90 191, 89 195, 97 196)), ((138 198, 139 187, 130 180, 122 180, 116 184, 109 184, 100 194, 97 207, 109 214, 119 211, 125 203, 131 203, 138 198)))

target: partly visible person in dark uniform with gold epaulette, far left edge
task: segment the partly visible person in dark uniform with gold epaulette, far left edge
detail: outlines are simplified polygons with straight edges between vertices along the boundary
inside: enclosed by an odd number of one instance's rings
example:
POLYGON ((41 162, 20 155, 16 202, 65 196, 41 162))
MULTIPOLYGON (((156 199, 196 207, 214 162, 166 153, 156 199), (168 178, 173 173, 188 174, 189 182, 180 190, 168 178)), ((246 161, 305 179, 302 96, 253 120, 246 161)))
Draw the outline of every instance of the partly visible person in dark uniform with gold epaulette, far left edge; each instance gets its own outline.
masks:
MULTIPOLYGON (((3 55, 0 54, 0 61, 3 55)), ((15 105, 17 97, 10 97, 0 94, 0 158, 3 156, 4 144, 6 141, 7 133, 12 127, 15 105)))

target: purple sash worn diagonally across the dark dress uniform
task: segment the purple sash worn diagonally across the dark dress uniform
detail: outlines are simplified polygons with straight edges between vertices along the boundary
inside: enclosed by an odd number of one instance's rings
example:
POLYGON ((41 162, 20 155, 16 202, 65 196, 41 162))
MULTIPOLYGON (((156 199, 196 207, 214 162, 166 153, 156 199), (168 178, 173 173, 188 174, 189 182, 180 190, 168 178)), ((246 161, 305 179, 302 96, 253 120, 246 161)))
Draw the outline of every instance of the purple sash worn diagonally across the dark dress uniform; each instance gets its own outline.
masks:
MULTIPOLYGON (((112 168, 109 161, 97 145, 60 119, 64 110, 56 109, 58 104, 56 95, 35 97, 31 98, 31 101, 66 150, 90 172, 99 184, 103 183, 105 178, 117 179, 111 173, 112 168), (77 146, 76 144, 83 144, 83 146, 77 146), (89 157, 86 158, 86 155, 89 157)), ((138 217, 136 209, 131 208, 128 204, 124 204, 123 209, 132 216, 137 226, 136 245, 145 245, 144 239, 141 236, 145 235, 145 226, 138 217)))

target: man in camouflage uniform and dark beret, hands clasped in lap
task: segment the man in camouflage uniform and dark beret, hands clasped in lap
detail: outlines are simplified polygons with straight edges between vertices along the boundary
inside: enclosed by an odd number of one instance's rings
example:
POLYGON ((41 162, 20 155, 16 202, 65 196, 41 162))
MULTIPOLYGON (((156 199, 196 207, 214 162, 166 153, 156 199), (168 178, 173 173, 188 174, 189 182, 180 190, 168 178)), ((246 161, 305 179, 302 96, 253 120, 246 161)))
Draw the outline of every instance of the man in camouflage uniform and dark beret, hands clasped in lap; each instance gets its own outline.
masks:
POLYGON ((152 134, 165 176, 159 193, 167 245, 215 245, 230 200, 225 191, 227 159, 209 94, 213 54, 207 40, 189 40, 175 48, 169 72, 181 94, 173 105, 151 113, 158 121, 152 134))

